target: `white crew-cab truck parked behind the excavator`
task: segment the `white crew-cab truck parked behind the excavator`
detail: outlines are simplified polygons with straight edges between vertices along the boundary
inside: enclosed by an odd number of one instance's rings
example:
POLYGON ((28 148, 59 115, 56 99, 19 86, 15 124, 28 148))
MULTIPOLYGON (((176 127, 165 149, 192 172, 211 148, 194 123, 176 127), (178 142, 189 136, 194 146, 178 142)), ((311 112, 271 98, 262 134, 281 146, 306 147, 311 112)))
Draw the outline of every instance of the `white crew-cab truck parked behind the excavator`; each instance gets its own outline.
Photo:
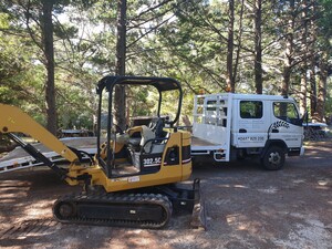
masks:
POLYGON ((208 94, 194 100, 191 155, 230 162, 259 156, 266 169, 283 167, 286 155, 303 155, 303 117, 292 97, 208 94))

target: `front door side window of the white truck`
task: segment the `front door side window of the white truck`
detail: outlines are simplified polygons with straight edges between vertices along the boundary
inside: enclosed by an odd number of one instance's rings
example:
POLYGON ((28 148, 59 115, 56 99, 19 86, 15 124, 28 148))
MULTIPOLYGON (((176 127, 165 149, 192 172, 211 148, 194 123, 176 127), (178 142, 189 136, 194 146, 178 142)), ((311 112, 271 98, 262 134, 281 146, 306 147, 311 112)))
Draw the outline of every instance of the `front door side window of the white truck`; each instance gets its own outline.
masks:
POLYGON ((295 105, 290 102, 274 102, 273 114, 276 117, 294 125, 298 125, 300 121, 295 105))

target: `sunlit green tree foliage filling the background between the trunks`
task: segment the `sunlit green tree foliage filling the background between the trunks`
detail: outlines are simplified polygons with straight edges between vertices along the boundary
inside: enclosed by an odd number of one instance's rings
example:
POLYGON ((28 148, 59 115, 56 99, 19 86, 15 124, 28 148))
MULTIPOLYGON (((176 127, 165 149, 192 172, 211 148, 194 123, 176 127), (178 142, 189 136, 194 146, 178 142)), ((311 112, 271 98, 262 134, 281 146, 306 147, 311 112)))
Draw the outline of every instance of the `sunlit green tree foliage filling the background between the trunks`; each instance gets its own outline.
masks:
MULTIPOLYGON (((0 102, 22 106, 44 123, 45 70, 42 66, 44 56, 39 48, 41 23, 33 21, 41 13, 40 2, 8 0, 0 3, 0 102), (22 8, 28 2, 31 4, 29 20, 22 8), (32 38, 39 42, 35 43, 32 38)), ((253 2, 241 3, 235 1, 234 55, 239 51, 236 91, 253 93, 253 2)), ((331 66, 332 1, 307 1, 308 4, 315 3, 315 8, 307 9, 302 8, 304 3, 295 1, 297 12, 292 12, 289 1, 263 1, 261 40, 264 93, 280 92, 287 58, 284 48, 290 33, 294 43, 291 53, 294 64, 291 87, 294 94, 300 95, 303 69, 311 59, 307 44, 314 41, 317 65, 324 61, 328 68, 331 66), (303 13, 317 23, 318 28, 312 31, 315 32, 312 34, 314 40, 309 35, 303 39, 303 13), (292 30, 288 27, 291 18, 295 18, 297 23, 292 30)), ((115 72, 116 8, 117 1, 55 1, 55 84, 61 128, 91 128, 93 125, 96 82, 105 74, 115 72)), ((177 79, 184 87, 183 114, 190 115, 195 94, 226 90, 228 14, 228 1, 128 0, 127 74, 177 79)), ((326 87, 330 89, 330 84, 326 87)), ((325 106, 331 114, 330 96, 325 106)), ((131 116, 153 115, 156 93, 147 89, 129 89, 127 97, 131 116)), ((166 98, 169 102, 164 111, 173 113, 175 96, 166 98)))

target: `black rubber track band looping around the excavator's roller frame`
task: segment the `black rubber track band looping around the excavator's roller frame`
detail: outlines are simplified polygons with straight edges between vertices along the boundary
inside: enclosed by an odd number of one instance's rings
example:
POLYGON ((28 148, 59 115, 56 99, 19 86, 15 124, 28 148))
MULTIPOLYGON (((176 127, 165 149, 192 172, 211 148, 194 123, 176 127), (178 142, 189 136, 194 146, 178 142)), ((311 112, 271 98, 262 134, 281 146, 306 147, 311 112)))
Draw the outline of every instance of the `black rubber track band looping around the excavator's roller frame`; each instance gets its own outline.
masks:
POLYGON ((134 227, 134 228, 152 228, 158 229, 165 227, 172 216, 172 203, 170 200, 160 194, 101 194, 101 195, 68 195, 59 198, 53 206, 53 215, 56 220, 65 224, 82 224, 93 226, 116 226, 116 227, 134 227), (98 219, 98 218, 83 218, 83 217, 71 217, 62 218, 59 216, 59 204, 70 203, 74 205, 80 204, 95 204, 98 205, 157 205, 163 208, 163 220, 159 222, 155 221, 141 221, 141 220, 118 220, 118 219, 98 219))

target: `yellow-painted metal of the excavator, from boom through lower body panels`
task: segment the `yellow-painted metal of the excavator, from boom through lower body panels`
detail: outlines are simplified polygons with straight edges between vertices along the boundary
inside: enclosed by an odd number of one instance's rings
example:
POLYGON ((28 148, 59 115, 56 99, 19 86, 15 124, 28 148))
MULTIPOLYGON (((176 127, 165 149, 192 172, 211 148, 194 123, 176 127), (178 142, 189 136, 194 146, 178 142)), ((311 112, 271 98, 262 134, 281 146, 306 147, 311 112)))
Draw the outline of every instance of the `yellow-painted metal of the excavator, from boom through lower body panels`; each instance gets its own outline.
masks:
MULTIPOLYGON (((135 176, 124 175, 118 178, 108 178, 98 165, 81 165, 77 156, 69 147, 66 147, 62 142, 60 142, 54 135, 48 132, 33 118, 23 113, 20 108, 0 104, 0 131, 2 133, 20 132, 29 134, 40 143, 49 147, 51 151, 56 152, 65 159, 71 162, 68 178, 65 179, 69 185, 83 184, 75 178, 83 174, 89 174, 92 176, 92 185, 103 186, 106 191, 118 191, 186 180, 190 177, 191 174, 191 162, 188 162, 186 164, 181 163, 181 147, 190 145, 190 134, 188 132, 178 131, 174 133, 173 129, 168 131, 170 132, 170 135, 165 146, 162 156, 160 169, 158 172, 144 175, 139 175, 138 173, 135 176), (166 160, 165 157, 167 148, 170 147, 179 148, 179 165, 164 165, 164 162, 166 160)), ((142 132, 142 127, 133 127, 128 131, 128 134, 132 135, 135 132, 142 132)), ((120 152, 123 147, 124 144, 115 145, 116 152, 120 152)), ((105 149, 102 149, 102 152, 104 152, 105 154, 105 149)), ((118 158, 118 160, 124 158, 118 158)))

